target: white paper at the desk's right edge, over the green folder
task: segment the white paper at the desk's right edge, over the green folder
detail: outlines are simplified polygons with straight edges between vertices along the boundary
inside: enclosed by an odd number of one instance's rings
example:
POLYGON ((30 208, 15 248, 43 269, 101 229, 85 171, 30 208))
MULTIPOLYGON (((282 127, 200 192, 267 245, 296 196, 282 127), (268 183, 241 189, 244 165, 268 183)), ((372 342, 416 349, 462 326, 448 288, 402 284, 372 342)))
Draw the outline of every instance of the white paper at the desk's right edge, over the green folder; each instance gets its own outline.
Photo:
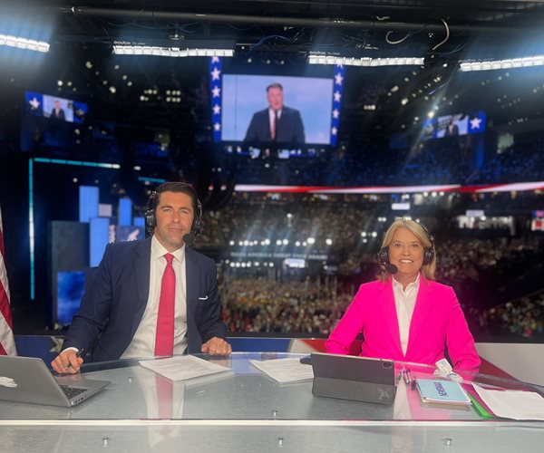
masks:
POLYGON ((544 398, 534 391, 488 390, 474 382, 472 386, 497 417, 544 420, 544 398))

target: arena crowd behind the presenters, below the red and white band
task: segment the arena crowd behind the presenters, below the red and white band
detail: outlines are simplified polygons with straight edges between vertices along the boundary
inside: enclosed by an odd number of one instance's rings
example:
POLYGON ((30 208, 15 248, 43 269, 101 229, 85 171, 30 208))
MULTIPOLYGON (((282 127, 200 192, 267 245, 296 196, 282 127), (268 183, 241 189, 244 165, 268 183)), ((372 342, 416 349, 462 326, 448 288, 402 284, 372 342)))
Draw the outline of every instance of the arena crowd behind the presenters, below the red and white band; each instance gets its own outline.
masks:
MULTIPOLYGON (((341 318, 356 287, 377 271, 376 241, 382 236, 384 223, 374 218, 372 207, 385 204, 387 198, 289 195, 265 203, 263 197, 270 195, 246 194, 234 199, 228 209, 211 214, 207 224, 215 228, 209 230, 209 236, 216 241, 221 238, 229 257, 225 263, 224 256, 224 280, 219 285, 228 327, 231 332, 325 335, 341 318), (304 245, 308 237, 316 242, 304 245), (267 238, 269 244, 261 244, 267 238), (284 238, 288 244, 277 245, 277 239, 284 238), (331 245, 326 245, 326 238, 331 239, 331 245), (248 243, 244 245, 244 241, 248 243), (228 251, 246 255, 321 253, 328 256, 328 264, 331 258, 334 260, 335 276, 326 276, 323 263, 318 261, 312 271, 284 274, 278 281, 277 273, 267 274, 263 259, 251 268, 230 267, 238 258, 228 251)), ((508 325, 501 334, 529 337, 542 332, 539 313, 531 312, 541 301, 533 298, 530 304, 516 303, 521 304, 517 310, 505 305, 541 287, 539 256, 544 253, 544 237, 539 232, 512 237, 509 229, 500 228, 462 230, 439 224, 432 229, 440 238, 437 278, 453 286, 476 336, 496 333, 492 329, 497 319, 508 325), (512 287, 517 292, 512 293, 512 287)), ((281 260, 276 265, 281 265, 281 260)))

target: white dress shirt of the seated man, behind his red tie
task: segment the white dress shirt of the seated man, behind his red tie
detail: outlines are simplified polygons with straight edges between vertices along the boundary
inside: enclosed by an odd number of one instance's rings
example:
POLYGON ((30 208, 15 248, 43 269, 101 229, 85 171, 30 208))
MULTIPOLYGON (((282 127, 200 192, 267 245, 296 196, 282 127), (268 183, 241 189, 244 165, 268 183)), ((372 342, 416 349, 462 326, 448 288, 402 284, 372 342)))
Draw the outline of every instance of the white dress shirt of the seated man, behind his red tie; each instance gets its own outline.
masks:
MULTIPOLYGON (((155 351, 157 315, 159 313, 160 285, 166 268, 164 255, 170 253, 155 236, 151 238, 150 293, 140 325, 134 333, 131 344, 121 355, 121 359, 150 357, 155 351)), ((187 287, 185 281, 185 246, 175 252, 172 267, 176 274, 174 309, 174 354, 182 354, 187 349, 187 287)))

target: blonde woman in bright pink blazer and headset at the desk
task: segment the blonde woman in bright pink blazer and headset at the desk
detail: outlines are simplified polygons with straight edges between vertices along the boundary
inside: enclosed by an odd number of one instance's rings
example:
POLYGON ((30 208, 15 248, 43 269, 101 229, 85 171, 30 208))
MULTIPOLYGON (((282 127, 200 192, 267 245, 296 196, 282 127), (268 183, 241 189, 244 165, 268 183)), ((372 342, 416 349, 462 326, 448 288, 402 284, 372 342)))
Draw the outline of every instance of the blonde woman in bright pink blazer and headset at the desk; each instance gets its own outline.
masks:
POLYGON ((432 236, 413 220, 396 220, 378 254, 382 273, 362 284, 325 342, 347 354, 363 333, 361 356, 434 365, 447 345, 456 371, 478 371, 480 357, 452 287, 434 282, 432 236))

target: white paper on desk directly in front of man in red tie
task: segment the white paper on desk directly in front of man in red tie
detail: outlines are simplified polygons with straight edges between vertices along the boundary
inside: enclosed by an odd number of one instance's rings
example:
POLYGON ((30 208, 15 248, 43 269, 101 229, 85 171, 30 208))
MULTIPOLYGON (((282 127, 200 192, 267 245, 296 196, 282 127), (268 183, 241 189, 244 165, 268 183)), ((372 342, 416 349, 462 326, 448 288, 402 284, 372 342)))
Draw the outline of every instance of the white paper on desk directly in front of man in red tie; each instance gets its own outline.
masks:
POLYGON ((141 366, 155 371, 171 381, 199 378, 221 371, 229 371, 229 368, 211 361, 205 361, 192 355, 181 355, 169 359, 156 361, 141 361, 141 366))

